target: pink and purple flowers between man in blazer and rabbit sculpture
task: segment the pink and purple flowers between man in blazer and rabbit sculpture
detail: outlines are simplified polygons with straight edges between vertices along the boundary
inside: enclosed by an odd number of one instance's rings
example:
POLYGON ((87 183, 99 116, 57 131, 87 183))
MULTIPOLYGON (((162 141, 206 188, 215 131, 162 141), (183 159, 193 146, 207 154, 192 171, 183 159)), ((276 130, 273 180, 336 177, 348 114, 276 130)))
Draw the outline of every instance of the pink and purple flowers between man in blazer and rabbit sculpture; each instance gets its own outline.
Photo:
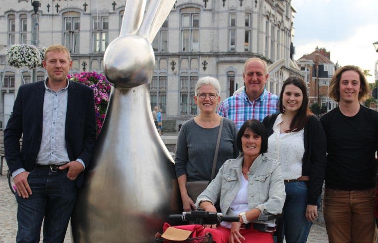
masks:
POLYGON ((83 83, 93 89, 95 93, 95 111, 97 136, 103 126, 106 110, 108 108, 111 85, 106 77, 97 72, 82 72, 68 75, 72 81, 83 83))

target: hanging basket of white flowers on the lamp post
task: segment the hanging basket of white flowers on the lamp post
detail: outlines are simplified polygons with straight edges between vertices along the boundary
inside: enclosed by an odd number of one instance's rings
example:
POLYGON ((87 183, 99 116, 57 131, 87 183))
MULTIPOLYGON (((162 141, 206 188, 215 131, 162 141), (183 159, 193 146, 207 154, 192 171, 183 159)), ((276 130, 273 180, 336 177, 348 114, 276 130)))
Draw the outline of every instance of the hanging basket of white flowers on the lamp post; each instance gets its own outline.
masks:
POLYGON ((41 53, 34 45, 14 44, 5 51, 6 62, 15 68, 34 69, 41 65, 41 53))

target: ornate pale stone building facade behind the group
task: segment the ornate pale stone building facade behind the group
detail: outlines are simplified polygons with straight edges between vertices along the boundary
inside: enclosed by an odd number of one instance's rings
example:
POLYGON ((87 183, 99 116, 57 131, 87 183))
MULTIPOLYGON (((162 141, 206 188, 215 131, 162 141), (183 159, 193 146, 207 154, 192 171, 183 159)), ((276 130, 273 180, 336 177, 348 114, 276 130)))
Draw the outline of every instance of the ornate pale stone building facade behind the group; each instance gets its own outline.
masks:
MULTIPOLYGON (((3 0, 0 44, 30 43, 30 0, 3 0)), ((39 8, 39 46, 64 44, 71 51, 72 73, 103 72, 107 45, 120 32, 125 0, 43 0, 39 8)), ((163 110, 165 127, 195 116, 194 85, 203 76, 221 83, 222 100, 243 86, 244 62, 261 57, 284 66, 269 78, 268 91, 278 94, 289 75, 303 74, 292 60, 295 9, 290 0, 177 0, 152 46, 155 72, 150 85, 151 107, 163 110), (291 47, 291 48, 290 48, 291 47), (291 58, 290 58, 291 57, 291 58)), ((0 47, 1 48, 1 47, 0 47)), ((127 54, 127 53, 125 53, 127 54)), ((31 81, 30 70, 5 65, 0 50, 1 124, 6 123, 18 87, 31 81)), ((37 80, 46 76, 37 68, 37 80)))

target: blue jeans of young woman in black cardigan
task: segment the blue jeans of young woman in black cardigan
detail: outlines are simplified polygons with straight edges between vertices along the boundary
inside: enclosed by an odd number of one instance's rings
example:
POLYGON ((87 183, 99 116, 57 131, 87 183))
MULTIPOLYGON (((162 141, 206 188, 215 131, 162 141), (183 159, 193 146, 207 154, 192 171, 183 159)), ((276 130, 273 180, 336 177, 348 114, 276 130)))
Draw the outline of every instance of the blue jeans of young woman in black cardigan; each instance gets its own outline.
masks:
POLYGON ((285 184, 285 192, 282 234, 286 243, 305 243, 312 226, 306 219, 307 186, 304 182, 289 182, 285 184))

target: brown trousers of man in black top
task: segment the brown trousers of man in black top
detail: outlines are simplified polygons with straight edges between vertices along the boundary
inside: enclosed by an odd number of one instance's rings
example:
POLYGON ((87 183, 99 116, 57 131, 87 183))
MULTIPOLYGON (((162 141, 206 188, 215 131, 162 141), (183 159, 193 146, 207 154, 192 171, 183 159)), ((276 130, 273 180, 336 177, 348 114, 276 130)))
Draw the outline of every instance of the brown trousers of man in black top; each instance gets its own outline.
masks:
POLYGON ((330 243, 376 243, 376 189, 325 189, 324 221, 330 243))

